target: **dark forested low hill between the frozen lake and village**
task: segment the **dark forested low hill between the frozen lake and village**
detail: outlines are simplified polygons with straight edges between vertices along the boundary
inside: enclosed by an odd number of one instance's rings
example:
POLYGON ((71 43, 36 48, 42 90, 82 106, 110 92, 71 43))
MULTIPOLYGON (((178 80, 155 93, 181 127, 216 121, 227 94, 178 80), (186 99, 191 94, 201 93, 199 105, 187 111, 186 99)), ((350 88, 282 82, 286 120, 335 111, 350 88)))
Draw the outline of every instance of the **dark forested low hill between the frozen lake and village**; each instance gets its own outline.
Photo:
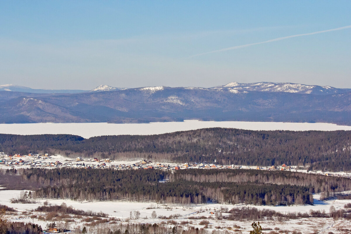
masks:
POLYGON ((222 165, 310 166, 351 171, 350 131, 249 131, 207 128, 160 135, 98 136, 0 134, 0 151, 82 158, 148 158, 222 165))

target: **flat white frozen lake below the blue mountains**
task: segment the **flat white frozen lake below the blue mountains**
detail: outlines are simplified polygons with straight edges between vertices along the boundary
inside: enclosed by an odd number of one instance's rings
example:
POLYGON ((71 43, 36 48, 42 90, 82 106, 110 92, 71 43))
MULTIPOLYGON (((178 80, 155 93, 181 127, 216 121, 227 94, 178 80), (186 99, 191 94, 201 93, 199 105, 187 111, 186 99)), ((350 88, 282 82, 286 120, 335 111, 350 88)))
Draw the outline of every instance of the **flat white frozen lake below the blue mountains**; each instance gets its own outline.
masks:
POLYGON ((73 134, 84 138, 102 135, 153 135, 200 128, 240 128, 246 130, 291 130, 291 131, 336 131, 351 130, 351 126, 332 123, 285 123, 285 122, 242 122, 242 121, 198 121, 154 122, 154 123, 14 123, 0 124, 0 133, 73 134))

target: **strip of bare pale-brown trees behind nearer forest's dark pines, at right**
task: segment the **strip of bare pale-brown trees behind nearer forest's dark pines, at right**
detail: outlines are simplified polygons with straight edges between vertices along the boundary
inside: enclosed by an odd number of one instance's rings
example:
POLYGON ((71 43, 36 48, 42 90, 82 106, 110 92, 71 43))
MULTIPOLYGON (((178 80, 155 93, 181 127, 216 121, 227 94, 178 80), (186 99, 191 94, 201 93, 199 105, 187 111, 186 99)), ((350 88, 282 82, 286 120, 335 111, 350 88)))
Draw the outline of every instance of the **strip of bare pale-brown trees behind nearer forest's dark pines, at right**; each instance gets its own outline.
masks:
POLYGON ((300 185, 309 188, 311 193, 324 193, 326 197, 351 190, 351 179, 287 171, 218 169, 187 169, 170 174, 170 181, 185 179, 196 182, 252 182, 256 184, 273 183, 279 185, 300 185))

